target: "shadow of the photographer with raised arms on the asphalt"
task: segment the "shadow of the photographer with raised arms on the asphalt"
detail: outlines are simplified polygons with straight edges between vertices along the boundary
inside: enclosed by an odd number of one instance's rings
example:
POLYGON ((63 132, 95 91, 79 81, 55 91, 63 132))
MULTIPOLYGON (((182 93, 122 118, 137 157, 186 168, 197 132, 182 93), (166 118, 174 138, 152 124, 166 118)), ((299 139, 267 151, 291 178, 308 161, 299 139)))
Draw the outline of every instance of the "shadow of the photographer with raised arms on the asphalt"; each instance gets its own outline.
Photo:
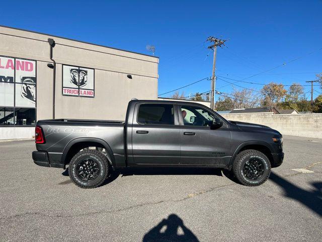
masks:
POLYGON ((142 242, 156 241, 190 241, 198 242, 196 235, 187 228, 182 219, 176 214, 170 214, 151 228, 143 237, 142 242))

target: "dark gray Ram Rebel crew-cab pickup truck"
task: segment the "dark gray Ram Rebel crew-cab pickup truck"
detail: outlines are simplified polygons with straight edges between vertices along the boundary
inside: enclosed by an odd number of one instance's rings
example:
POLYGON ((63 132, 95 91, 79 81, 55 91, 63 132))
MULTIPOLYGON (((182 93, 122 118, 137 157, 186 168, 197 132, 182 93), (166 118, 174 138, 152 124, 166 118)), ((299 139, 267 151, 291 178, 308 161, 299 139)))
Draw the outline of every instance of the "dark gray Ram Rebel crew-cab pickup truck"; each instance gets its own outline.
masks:
POLYGON ((217 167, 259 186, 281 165, 282 135, 267 126, 228 121, 182 101, 132 100, 125 121, 39 120, 37 165, 66 168, 78 187, 100 186, 119 168, 217 167))

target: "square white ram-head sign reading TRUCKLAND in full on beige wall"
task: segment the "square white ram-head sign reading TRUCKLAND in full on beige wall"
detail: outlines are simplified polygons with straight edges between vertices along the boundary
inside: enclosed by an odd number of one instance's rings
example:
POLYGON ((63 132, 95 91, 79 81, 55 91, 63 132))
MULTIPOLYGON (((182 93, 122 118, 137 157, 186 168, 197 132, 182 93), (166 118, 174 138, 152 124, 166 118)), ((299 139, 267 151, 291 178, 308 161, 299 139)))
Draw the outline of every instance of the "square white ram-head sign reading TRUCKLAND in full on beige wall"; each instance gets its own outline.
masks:
POLYGON ((94 69, 63 65, 62 95, 94 97, 94 69))

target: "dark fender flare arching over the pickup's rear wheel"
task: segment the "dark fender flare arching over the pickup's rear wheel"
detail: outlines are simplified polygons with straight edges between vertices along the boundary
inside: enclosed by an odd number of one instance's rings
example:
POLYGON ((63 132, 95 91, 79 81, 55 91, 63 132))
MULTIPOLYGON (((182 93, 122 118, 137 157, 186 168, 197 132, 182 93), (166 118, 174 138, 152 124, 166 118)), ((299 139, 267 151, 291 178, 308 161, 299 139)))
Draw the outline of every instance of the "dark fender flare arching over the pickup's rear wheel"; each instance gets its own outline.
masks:
POLYGON ((111 147, 109 146, 109 144, 104 141, 104 140, 101 140, 101 139, 98 139, 98 138, 91 138, 91 137, 83 137, 83 138, 76 138, 76 139, 73 139, 71 140, 64 148, 63 152, 62 152, 62 156, 61 156, 61 163, 65 164, 65 159, 66 159, 66 156, 70 150, 70 148, 74 145, 74 144, 77 144, 77 143, 83 143, 83 142, 96 142, 96 143, 99 143, 101 145, 103 145, 103 147, 106 149, 107 151, 107 154, 106 154, 106 157, 108 159, 108 161, 110 162, 110 164, 114 167, 116 165, 116 162, 115 162, 115 157, 114 157, 114 154, 113 154, 113 151, 111 149, 111 147))

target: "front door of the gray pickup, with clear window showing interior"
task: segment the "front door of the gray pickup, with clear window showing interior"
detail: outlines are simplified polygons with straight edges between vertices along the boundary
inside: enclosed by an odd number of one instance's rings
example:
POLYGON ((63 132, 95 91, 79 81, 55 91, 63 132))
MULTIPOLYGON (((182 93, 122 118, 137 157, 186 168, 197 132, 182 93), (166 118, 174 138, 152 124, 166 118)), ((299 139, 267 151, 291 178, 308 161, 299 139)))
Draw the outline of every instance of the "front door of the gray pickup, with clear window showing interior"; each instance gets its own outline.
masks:
POLYGON ((180 164, 225 165, 230 154, 230 130, 223 126, 211 130, 213 119, 220 118, 210 110, 194 105, 179 106, 180 164))

